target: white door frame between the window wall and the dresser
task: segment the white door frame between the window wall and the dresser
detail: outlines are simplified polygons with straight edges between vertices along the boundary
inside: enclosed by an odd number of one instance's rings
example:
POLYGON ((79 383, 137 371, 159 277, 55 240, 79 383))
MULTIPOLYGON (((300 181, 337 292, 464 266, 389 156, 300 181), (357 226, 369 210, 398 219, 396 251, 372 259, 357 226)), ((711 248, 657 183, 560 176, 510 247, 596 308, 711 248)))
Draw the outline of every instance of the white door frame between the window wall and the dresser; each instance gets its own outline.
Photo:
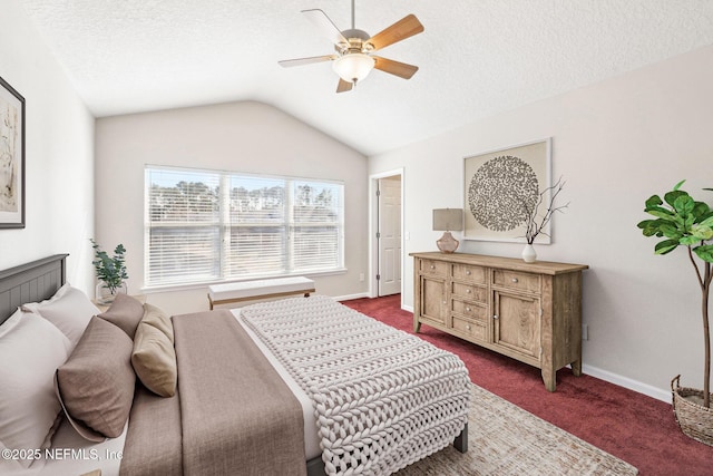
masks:
POLYGON ((377 242, 377 231, 379 230, 379 201, 377 200, 377 190, 379 179, 385 177, 401 176, 401 308, 403 308, 403 252, 404 236, 403 232, 403 208, 406 206, 406 175, 403 167, 391 171, 380 172, 369 176, 369 297, 377 298, 379 283, 377 282, 377 270, 379 269, 379 244, 377 242))

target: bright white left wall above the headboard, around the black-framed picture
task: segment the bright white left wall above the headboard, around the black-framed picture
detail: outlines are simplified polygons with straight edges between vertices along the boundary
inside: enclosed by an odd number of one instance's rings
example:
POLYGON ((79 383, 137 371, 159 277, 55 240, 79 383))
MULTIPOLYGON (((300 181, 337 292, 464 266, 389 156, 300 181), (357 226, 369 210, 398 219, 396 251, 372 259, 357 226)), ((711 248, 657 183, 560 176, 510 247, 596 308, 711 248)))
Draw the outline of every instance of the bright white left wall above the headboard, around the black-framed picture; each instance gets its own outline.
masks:
POLYGON ((20 2, 0 13, 0 76, 26 100, 26 227, 0 230, 0 269, 69 253, 67 279, 91 292, 94 117, 20 2))

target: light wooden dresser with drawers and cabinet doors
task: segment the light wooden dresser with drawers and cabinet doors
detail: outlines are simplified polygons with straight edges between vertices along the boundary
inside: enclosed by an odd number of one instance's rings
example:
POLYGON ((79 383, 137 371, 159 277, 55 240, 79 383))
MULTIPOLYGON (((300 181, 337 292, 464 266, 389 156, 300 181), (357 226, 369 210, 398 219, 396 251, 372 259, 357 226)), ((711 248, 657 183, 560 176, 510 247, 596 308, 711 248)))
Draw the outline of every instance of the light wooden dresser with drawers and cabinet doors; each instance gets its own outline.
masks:
POLYGON ((413 330, 421 323, 541 369, 582 375, 582 271, 586 264, 439 252, 413 256, 413 330))

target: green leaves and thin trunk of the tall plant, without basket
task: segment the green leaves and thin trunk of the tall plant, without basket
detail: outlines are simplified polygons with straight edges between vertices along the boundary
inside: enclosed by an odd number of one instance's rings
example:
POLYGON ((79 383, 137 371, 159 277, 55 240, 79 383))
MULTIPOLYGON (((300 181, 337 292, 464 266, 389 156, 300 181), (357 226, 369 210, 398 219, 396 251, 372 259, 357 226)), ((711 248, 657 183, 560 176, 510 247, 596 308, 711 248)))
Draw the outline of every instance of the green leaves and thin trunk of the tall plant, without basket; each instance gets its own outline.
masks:
MULTIPOLYGON (((693 264, 701 286, 701 313, 703 317, 703 339, 705 342, 705 368, 703 373, 703 406, 711 407, 711 332, 709 327, 709 297, 713 278, 713 210, 704 203, 694 201, 687 192, 681 190, 685 181, 678 182, 662 201, 653 195, 646 201, 644 212, 656 220, 638 223, 644 236, 663 237, 656 243, 656 254, 671 253, 678 246, 685 246, 688 260, 693 264), (696 261, 701 260, 701 264, 696 261)), ((713 188, 704 188, 713 191, 713 188)))

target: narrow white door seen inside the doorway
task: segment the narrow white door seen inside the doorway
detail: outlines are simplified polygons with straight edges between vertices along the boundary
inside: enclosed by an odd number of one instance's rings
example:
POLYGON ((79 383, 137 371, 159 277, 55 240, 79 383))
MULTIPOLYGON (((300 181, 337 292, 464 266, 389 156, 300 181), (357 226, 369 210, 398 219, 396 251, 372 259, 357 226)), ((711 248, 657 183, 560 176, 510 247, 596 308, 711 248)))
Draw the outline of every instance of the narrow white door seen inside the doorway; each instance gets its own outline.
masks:
POLYGON ((378 294, 401 292, 401 176, 379 178, 378 294))

